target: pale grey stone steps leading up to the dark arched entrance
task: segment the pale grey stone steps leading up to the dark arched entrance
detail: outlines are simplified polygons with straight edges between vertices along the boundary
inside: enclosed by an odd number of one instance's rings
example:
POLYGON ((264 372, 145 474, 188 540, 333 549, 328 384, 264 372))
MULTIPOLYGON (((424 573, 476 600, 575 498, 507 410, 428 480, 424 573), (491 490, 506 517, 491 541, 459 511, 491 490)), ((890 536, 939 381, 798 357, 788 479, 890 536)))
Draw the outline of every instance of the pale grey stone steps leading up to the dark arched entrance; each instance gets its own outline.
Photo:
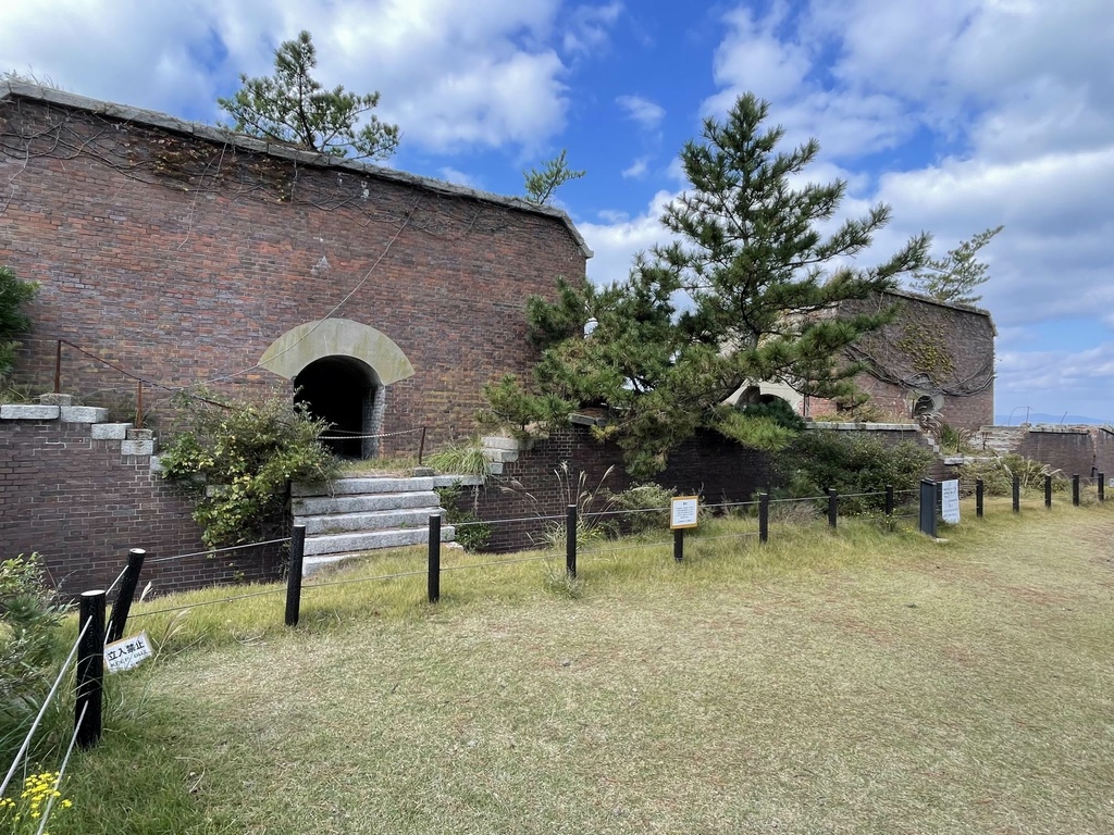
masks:
MULTIPOLYGON (((305 525, 302 574, 381 548, 424 544, 429 518, 444 515, 434 488, 475 484, 462 475, 361 475, 325 487, 294 484, 291 512, 305 525)), ((452 525, 441 541, 453 540, 452 525)))

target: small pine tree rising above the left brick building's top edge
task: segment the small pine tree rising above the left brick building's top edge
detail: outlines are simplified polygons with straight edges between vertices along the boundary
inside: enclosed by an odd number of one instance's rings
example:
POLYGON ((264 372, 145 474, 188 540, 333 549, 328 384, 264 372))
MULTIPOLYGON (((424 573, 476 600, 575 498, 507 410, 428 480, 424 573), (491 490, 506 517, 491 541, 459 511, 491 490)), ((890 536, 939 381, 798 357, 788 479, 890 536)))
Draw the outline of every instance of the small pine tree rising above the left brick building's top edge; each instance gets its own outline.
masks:
POLYGON ((361 96, 340 85, 325 89, 311 75, 316 66, 313 40, 302 31, 275 50, 273 76, 241 75, 243 87, 217 104, 235 120, 233 130, 338 157, 392 156, 399 146, 399 126, 380 121, 371 112, 379 105, 379 92, 361 96), (364 125, 358 128, 361 119, 364 125))

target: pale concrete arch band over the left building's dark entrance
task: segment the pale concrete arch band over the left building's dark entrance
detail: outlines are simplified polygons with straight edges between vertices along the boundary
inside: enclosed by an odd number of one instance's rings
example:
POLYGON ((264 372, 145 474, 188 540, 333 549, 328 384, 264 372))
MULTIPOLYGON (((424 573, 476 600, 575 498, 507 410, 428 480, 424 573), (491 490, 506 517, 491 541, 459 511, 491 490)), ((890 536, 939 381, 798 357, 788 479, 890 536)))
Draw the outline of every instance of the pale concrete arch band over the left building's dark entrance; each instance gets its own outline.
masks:
POLYGON ((390 385, 414 373, 413 365, 390 337, 374 327, 346 318, 324 318, 291 328, 260 357, 260 365, 286 380, 329 356, 351 356, 364 362, 378 385, 390 385))

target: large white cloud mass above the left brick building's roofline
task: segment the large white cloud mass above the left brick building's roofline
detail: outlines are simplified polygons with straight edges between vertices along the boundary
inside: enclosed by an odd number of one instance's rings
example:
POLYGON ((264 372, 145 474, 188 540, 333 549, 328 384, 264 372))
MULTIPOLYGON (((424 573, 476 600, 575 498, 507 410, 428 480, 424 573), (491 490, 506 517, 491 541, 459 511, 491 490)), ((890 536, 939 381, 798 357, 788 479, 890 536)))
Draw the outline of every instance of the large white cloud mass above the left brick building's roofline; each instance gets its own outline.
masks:
MULTIPOLYGON (((618 10, 575 10, 568 27, 596 45, 618 10)), ((0 55, 75 92, 215 119, 204 102, 241 71, 270 73, 277 43, 304 28, 320 80, 380 90, 403 151, 534 149, 568 108, 560 11, 560 0, 42 0, 0 6, 0 55)))

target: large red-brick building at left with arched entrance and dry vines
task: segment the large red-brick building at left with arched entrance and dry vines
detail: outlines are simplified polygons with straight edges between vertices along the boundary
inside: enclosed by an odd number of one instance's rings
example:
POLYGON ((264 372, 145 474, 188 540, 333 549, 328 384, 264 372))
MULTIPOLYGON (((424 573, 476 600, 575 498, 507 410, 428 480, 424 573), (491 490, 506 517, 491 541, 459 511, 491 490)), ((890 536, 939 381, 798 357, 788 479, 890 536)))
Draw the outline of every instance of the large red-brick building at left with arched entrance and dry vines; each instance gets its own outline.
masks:
POLYGON ((0 85, 0 264, 40 284, 17 382, 51 391, 60 357, 62 391, 121 416, 128 375, 172 421, 176 389, 297 386, 339 432, 388 435, 348 454, 452 440, 532 364, 526 299, 588 257, 554 208, 0 85))

